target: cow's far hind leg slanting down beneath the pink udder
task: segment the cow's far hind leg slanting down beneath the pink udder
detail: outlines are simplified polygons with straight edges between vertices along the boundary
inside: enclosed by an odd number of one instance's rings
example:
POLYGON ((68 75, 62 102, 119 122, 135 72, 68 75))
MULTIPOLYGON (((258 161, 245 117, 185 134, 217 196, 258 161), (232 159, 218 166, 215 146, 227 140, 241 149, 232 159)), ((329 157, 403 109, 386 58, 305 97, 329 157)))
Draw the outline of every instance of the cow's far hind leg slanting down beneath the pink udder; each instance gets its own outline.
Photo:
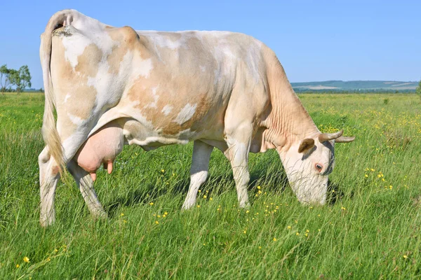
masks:
POLYGON ((79 167, 74 160, 71 160, 67 165, 70 174, 72 174, 76 185, 81 191, 83 200, 85 200, 86 205, 88 206, 89 212, 94 218, 107 218, 108 215, 102 208, 100 201, 93 189, 93 180, 91 174, 79 167))

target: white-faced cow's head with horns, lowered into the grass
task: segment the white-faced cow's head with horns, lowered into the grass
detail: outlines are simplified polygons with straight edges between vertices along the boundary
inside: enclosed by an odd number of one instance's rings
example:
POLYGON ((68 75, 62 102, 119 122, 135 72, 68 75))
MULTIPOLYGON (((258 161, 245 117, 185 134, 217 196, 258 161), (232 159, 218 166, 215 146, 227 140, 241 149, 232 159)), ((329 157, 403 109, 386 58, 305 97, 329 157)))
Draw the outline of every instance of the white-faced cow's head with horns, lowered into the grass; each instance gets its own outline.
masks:
POLYGON ((288 181, 298 200, 305 204, 325 204, 328 175, 335 165, 335 143, 354 141, 355 137, 342 137, 343 130, 321 133, 302 139, 279 151, 288 181))

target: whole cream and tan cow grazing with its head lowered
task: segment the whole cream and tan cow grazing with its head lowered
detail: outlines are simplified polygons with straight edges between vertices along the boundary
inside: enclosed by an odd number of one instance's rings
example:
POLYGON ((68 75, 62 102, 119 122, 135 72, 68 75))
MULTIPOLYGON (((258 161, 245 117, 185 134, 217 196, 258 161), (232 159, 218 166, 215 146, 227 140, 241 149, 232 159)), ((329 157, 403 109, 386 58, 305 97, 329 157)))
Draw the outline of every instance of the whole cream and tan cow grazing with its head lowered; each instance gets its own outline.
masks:
POLYGON ((145 151, 194 141, 183 209, 196 202, 213 147, 231 162, 240 207, 248 205, 248 153, 274 148, 303 203, 324 204, 335 142, 321 134, 276 55, 260 41, 225 31, 135 31, 62 10, 41 35, 46 94, 39 155, 41 225, 55 220, 62 167, 93 216, 107 216, 95 172, 124 144, 145 151), (53 111, 57 111, 57 124, 53 111))

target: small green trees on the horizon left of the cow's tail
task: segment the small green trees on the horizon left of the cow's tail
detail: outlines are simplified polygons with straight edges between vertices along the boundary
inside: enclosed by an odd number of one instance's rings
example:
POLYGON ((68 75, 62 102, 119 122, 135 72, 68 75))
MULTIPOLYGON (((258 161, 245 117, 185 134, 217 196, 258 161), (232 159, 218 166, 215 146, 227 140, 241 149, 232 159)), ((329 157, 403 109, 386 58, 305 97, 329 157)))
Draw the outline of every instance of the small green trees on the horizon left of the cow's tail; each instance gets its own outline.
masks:
POLYGON ((31 73, 27 65, 23 65, 20 69, 9 69, 4 64, 0 66, 0 92, 4 95, 4 92, 16 91, 18 94, 25 90, 27 87, 31 87, 31 73))

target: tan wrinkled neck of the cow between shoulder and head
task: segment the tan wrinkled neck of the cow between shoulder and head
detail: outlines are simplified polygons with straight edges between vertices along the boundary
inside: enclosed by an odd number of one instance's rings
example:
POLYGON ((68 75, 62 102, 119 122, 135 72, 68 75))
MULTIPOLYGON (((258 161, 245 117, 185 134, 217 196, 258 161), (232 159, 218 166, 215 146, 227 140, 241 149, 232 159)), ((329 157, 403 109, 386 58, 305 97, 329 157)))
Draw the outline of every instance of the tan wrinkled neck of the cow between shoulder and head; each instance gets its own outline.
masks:
MULTIPOLYGON (((269 78, 271 106, 267 116, 267 137, 277 150, 288 150, 307 137, 316 137, 319 130, 290 85, 282 66, 269 78)), ((269 145, 269 146, 272 146, 269 145)))

